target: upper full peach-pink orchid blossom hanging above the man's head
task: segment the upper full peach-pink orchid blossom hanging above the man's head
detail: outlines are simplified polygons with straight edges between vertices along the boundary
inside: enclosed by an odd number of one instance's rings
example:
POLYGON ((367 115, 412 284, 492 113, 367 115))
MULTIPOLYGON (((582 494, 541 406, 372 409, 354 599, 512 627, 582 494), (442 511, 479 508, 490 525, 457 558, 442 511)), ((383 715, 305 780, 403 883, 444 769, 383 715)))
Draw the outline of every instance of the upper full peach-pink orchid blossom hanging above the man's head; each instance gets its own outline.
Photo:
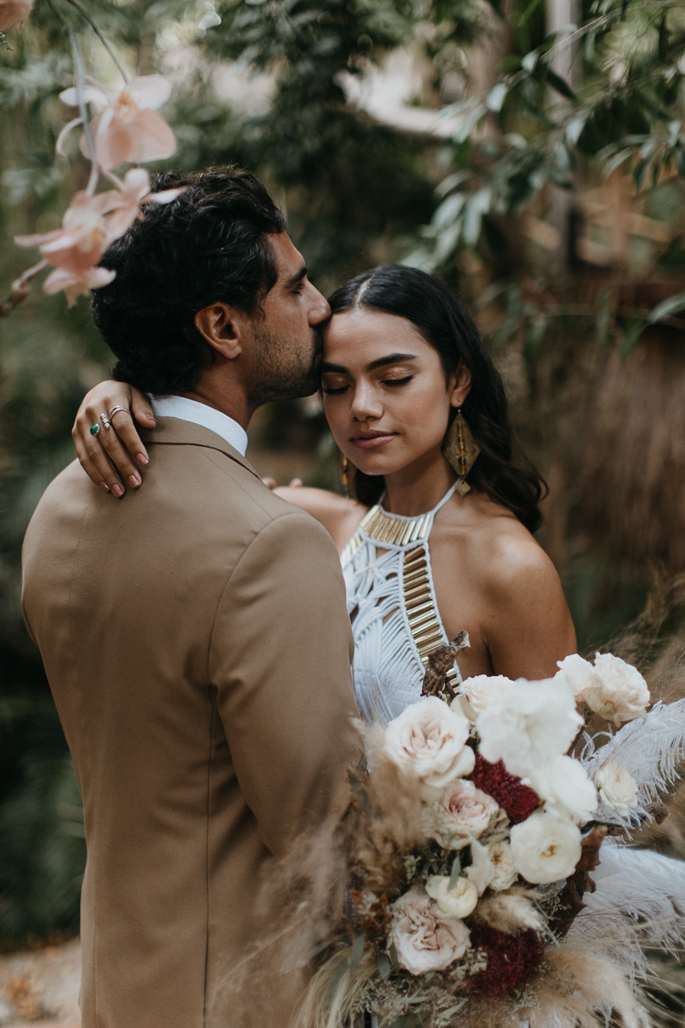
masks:
MULTIPOLYGON (((176 137, 162 116, 157 114, 157 108, 168 100, 170 94, 170 82, 163 75, 131 78, 115 99, 103 86, 85 87, 86 102, 102 112, 90 122, 96 156, 102 169, 107 172, 125 161, 140 163, 172 156, 176 150, 176 137)), ((73 86, 61 93, 60 99, 69 107, 78 106, 73 86)), ((79 123, 80 120, 75 118, 60 133, 59 153, 64 153, 67 134, 79 123)), ((86 157, 89 156, 84 137, 81 138, 81 150, 86 157)))

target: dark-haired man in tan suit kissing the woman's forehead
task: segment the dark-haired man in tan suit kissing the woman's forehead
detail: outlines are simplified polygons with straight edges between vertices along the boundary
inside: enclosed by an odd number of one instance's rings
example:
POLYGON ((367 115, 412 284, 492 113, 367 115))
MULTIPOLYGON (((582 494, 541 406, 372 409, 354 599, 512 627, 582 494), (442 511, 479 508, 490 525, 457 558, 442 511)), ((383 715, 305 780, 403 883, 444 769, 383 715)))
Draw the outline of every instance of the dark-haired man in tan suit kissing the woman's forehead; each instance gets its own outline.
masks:
POLYGON ((253 176, 168 185, 93 298, 116 373, 161 397, 146 487, 117 504, 76 462, 58 476, 24 609, 83 797, 83 1028, 286 1028, 279 966, 252 1017, 222 996, 272 926, 274 857, 343 802, 351 640, 331 539, 262 483, 244 430, 313 391, 329 307, 253 176))

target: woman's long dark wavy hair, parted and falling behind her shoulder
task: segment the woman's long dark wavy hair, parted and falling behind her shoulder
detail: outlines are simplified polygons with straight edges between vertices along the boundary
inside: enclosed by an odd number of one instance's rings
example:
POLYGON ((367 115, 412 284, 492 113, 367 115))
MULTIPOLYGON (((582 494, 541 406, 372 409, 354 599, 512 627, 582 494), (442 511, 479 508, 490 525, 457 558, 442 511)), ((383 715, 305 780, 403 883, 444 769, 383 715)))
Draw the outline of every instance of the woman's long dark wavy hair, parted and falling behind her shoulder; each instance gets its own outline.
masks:
MULTIPOLYGON (((535 531, 542 520, 539 502, 546 484, 521 451, 513 455, 520 448, 502 379, 459 300, 424 271, 382 264, 337 289, 329 303, 334 315, 360 306, 406 318, 437 351, 446 375, 460 362, 468 368, 471 389, 461 410, 481 447, 468 480, 535 531)), ((381 476, 358 470, 353 484, 356 498, 368 506, 378 502, 384 488, 381 476)))

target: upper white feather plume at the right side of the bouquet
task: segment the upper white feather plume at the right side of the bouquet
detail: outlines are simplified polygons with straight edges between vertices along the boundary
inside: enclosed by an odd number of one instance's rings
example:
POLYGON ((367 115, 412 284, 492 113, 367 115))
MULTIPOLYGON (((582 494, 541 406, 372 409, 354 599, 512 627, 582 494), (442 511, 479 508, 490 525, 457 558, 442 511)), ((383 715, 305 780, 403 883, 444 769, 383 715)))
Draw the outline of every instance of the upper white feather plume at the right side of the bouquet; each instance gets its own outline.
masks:
MULTIPOLYGON (((655 703, 645 721, 640 719, 623 725, 608 742, 596 748, 596 739, 604 733, 587 738, 580 760, 591 778, 610 758, 620 767, 630 771, 638 786, 639 808, 636 813, 645 813, 645 807, 661 799, 679 780, 678 768, 685 760, 685 699, 675 703, 655 703)), ((610 808, 603 805, 600 817, 627 823, 610 808)))

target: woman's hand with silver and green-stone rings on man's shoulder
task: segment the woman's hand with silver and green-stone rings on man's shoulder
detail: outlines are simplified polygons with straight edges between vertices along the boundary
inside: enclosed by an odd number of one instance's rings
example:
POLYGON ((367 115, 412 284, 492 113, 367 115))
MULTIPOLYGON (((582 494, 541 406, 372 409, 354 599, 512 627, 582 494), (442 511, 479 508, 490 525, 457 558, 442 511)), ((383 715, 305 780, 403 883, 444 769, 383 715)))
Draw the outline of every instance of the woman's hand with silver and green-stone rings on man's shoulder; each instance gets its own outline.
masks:
POLYGON ((147 396, 126 382, 104 381, 86 393, 72 429, 83 471, 105 492, 119 498, 126 491, 124 483, 132 489, 142 484, 140 468, 149 460, 136 421, 146 429, 154 429, 157 424, 147 396), (129 412, 116 411, 111 417, 112 428, 106 430, 101 415, 109 416, 113 407, 125 407, 129 412), (90 434, 93 425, 100 427, 94 436, 90 434))

